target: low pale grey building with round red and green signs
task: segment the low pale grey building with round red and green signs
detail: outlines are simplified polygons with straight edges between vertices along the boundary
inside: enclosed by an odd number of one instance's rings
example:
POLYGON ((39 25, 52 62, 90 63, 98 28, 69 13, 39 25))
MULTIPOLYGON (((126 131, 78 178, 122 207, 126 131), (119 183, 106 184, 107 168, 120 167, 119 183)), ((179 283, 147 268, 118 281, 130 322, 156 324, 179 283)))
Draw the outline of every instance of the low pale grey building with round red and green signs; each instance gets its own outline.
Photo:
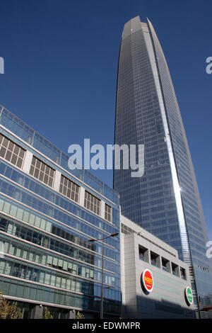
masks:
POLYGON ((194 303, 187 301, 191 289, 189 266, 177 250, 121 215, 122 315, 140 319, 194 318, 194 303), (149 271, 153 287, 143 288, 149 271))

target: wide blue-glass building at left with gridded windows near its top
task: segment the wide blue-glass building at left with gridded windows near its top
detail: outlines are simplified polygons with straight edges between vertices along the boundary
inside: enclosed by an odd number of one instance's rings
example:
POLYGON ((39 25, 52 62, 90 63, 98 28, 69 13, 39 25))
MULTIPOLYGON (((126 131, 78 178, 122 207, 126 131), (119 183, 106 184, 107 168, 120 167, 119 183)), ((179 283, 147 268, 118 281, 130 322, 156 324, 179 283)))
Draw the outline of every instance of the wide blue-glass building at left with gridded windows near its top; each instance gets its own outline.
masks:
MULTIPOLYGON (((119 198, 68 160, 0 106, 0 290, 25 317, 38 305, 99 316, 102 244, 88 239, 119 232, 119 198)), ((119 315, 119 236, 105 239, 103 282, 104 313, 119 315)))

